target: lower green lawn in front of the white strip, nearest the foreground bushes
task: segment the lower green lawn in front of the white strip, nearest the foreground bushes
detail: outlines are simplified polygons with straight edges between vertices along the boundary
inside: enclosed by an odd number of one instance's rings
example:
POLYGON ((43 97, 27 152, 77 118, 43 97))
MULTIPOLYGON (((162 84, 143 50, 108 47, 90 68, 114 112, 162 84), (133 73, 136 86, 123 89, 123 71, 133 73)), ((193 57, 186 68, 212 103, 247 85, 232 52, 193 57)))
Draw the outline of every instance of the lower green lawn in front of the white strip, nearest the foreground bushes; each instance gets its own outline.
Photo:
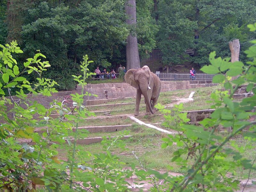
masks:
MULTIPOLYGON (((161 132, 145 127, 139 124, 132 124, 132 127, 128 129, 130 131, 131 138, 124 140, 126 150, 112 147, 110 151, 112 154, 116 154, 120 161, 124 162, 122 167, 130 167, 132 163, 140 167, 140 162, 135 158, 134 153, 140 159, 147 168, 152 168, 156 170, 164 170, 170 172, 181 172, 180 165, 172 162, 172 157, 174 151, 179 147, 172 145, 167 148, 161 148, 163 143, 162 138, 166 137, 165 134, 161 132)), ((120 131, 122 132, 122 131, 120 131)), ((120 132, 114 133, 91 133, 88 136, 113 136, 119 135, 120 132)), ((227 135, 227 133, 216 133, 219 135, 227 135)), ((233 140, 238 143, 240 147, 246 148, 246 141, 242 136, 237 136, 233 140)), ((230 143, 227 143, 225 147, 231 147, 230 143)), ((256 147, 256 146, 255 146, 256 147)), ((232 148, 232 147, 231 147, 232 148)), ((103 151, 103 147, 100 143, 95 143, 91 145, 78 145, 78 150, 89 151, 92 154, 100 153, 103 151)), ((61 148, 58 149, 60 159, 65 159, 68 152, 71 152, 71 147, 67 144, 64 144, 61 148)), ((244 150, 243 156, 245 158, 253 160, 256 155, 256 150, 244 150)), ((186 155, 182 156, 187 158, 186 155)), ((232 160, 232 155, 228 156, 229 160, 232 160)), ((89 161, 90 159, 88 159, 89 161)), ((192 164, 191 159, 188 159, 188 164, 192 164)), ((243 168, 237 168, 236 170, 237 179, 246 179, 248 177, 249 170, 244 170, 243 168)), ((256 177, 256 171, 251 171, 251 178, 256 177)))

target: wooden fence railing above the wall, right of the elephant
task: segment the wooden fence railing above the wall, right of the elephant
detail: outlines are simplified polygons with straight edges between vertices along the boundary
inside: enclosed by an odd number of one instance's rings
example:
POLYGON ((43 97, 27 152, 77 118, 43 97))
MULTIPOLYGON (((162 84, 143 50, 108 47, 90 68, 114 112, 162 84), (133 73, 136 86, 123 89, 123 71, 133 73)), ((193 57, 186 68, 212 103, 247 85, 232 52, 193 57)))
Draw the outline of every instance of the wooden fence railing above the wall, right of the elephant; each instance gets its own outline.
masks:
MULTIPOLYGON (((157 73, 156 73, 157 74, 157 73)), ((192 76, 186 73, 159 73, 157 76, 161 81, 189 81, 192 80, 192 76)), ((196 73, 196 80, 212 80, 215 75, 209 75, 204 73, 196 73)), ((194 78, 193 78, 194 80, 194 78)))

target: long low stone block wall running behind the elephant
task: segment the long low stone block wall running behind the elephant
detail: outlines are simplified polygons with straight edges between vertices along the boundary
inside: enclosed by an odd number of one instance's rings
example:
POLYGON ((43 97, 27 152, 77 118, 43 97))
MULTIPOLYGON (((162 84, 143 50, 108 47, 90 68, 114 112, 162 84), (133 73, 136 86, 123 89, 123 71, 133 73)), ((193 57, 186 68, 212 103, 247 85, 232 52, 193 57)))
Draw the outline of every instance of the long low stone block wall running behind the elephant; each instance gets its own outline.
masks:
MULTIPOLYGON (((196 81, 161 81, 162 87, 161 92, 172 91, 172 90, 181 90, 181 89, 190 89, 190 88, 199 88, 199 87, 210 87, 215 86, 217 84, 212 84, 212 81, 208 80, 196 80, 196 81)), ((97 99, 106 99, 106 93, 108 95, 108 99, 119 98, 119 97, 136 97, 136 89, 127 83, 103 83, 103 84, 87 84, 85 86, 85 92, 93 93, 98 95, 98 97, 94 96, 85 96, 85 100, 97 100, 97 99)), ((76 90, 73 91, 64 91, 58 93, 52 93, 51 97, 45 97, 42 95, 33 96, 32 94, 28 95, 28 98, 32 101, 37 101, 38 103, 44 105, 45 107, 50 107, 50 103, 54 100, 57 101, 65 101, 65 104, 68 107, 72 106, 72 100, 70 99, 70 94, 81 92, 81 87, 77 87, 76 90)), ((235 98, 245 98, 252 96, 252 92, 246 92, 246 85, 242 85, 236 91, 234 97, 235 98)), ((19 100, 16 96, 13 96, 14 100, 19 100)), ((86 103, 85 103, 86 104, 86 103)))

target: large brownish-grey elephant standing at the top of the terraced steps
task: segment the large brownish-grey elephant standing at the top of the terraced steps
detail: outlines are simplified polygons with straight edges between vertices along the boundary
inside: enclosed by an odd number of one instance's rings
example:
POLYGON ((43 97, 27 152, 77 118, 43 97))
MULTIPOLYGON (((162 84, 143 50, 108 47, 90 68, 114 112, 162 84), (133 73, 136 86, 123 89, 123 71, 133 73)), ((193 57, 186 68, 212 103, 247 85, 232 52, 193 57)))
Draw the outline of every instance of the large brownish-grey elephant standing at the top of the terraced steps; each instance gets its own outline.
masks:
POLYGON ((161 81, 156 74, 152 73, 147 65, 139 69, 130 69, 126 72, 126 83, 137 89, 135 116, 140 113, 140 100, 143 94, 146 103, 146 115, 156 113, 157 99, 161 91, 161 81), (151 103, 152 101, 152 103, 151 103))

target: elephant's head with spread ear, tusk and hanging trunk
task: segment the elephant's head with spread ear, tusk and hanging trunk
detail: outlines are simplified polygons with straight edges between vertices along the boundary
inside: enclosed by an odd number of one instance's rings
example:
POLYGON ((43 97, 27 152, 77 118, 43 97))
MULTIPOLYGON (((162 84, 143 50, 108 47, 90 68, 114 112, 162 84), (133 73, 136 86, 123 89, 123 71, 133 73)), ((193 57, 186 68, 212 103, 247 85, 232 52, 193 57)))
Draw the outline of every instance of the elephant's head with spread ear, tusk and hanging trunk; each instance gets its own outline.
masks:
POLYGON ((136 89, 141 90, 142 94, 144 95, 146 105, 148 106, 150 112, 154 114, 150 103, 151 95, 148 94, 149 90, 153 88, 150 86, 153 86, 154 84, 149 67, 145 65, 139 69, 130 69, 126 72, 124 79, 126 83, 132 85, 136 89))

